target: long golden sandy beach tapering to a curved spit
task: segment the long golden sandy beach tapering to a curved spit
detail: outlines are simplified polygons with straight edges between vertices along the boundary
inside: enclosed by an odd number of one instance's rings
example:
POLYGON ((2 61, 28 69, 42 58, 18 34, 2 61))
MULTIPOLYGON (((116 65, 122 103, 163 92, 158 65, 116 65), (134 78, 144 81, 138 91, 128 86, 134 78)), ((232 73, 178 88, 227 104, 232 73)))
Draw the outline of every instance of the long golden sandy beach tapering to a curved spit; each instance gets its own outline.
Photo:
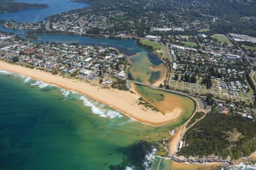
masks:
POLYGON ((92 86, 79 79, 63 78, 62 76, 52 75, 45 71, 29 69, 27 67, 3 61, 0 61, 0 69, 29 76, 32 79, 42 80, 49 84, 55 84, 66 90, 79 92, 80 94, 88 96, 90 99, 109 105, 117 111, 144 124, 160 126, 167 122, 175 121, 177 117, 180 116, 180 114, 176 114, 176 111, 162 114, 160 112, 145 109, 142 105, 137 104, 138 98, 140 97, 137 93, 133 94, 129 91, 119 91, 101 88, 100 86, 92 86))

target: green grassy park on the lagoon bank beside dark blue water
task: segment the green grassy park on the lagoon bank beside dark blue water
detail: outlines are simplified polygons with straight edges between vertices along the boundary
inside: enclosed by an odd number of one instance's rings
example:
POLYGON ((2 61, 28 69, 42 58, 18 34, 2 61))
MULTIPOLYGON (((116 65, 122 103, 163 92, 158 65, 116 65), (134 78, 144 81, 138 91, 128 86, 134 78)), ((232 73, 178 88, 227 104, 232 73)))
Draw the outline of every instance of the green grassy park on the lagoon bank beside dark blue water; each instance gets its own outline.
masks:
POLYGON ((158 58, 167 58, 166 46, 159 44, 158 42, 150 41, 150 40, 141 40, 140 41, 144 45, 152 46, 154 51, 153 53, 158 56, 158 58), (157 50, 159 49, 159 50, 157 50))

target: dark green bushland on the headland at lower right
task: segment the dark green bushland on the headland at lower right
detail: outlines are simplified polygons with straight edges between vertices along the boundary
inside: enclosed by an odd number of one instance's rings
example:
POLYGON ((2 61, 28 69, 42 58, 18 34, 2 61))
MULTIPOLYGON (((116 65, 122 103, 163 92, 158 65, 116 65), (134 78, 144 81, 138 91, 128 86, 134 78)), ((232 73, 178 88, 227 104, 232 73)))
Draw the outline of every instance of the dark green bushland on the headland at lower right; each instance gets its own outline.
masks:
POLYGON ((218 114, 218 109, 212 108, 212 112, 185 133, 186 146, 178 154, 240 159, 256 150, 255 131, 255 122, 237 114, 218 114), (242 134, 237 141, 228 140, 228 133, 233 129, 242 134))

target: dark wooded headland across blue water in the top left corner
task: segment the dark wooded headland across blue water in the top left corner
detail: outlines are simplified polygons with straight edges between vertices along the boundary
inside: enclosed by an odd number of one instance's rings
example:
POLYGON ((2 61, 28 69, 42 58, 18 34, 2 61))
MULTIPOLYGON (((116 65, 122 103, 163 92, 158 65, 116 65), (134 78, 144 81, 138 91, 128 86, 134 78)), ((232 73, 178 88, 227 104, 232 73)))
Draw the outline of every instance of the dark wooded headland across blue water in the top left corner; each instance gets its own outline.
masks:
POLYGON ((14 2, 13 0, 0 0, 0 13, 30 10, 35 8, 47 8, 46 4, 14 2))

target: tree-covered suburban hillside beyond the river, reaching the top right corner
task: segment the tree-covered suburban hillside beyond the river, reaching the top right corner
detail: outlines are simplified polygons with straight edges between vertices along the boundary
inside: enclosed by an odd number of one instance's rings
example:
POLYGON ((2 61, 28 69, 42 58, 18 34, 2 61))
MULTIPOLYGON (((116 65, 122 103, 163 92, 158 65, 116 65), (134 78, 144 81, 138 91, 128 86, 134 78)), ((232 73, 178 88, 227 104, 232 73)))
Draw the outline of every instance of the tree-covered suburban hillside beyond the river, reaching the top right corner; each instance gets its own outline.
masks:
MULTIPOLYGON (((183 28, 196 33, 244 33, 256 36, 256 1, 246 0, 73 0, 90 6, 50 16, 52 22, 83 24, 86 32, 97 27, 102 34, 157 34, 154 28, 183 28), (107 2, 107 3, 106 3, 107 2), (73 14, 77 15, 73 15, 73 14), (76 18, 76 16, 79 16, 76 18)), ((172 33, 172 32, 171 32, 172 33)))

